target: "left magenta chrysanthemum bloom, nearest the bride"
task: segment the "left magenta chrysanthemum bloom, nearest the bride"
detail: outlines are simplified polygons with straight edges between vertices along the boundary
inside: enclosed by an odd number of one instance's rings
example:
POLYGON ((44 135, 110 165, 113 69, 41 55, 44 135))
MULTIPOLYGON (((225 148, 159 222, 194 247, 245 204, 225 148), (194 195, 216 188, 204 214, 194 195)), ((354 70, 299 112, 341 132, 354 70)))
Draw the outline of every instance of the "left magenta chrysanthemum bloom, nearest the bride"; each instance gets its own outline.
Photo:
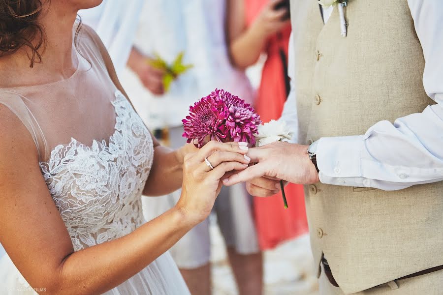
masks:
POLYGON ((203 97, 190 106, 189 111, 189 116, 182 120, 185 125, 183 137, 188 138, 188 143, 193 142, 197 148, 201 148, 205 139, 222 142, 226 138, 224 122, 227 108, 222 102, 203 97))

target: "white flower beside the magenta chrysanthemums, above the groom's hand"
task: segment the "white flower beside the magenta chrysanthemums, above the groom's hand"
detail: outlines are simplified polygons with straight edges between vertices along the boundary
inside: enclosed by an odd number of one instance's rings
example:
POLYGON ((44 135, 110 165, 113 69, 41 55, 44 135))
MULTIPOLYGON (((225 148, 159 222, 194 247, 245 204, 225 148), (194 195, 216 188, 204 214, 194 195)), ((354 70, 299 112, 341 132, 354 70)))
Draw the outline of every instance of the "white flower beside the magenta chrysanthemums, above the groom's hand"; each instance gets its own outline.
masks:
POLYGON ((263 147, 276 141, 288 142, 292 139, 293 132, 285 121, 271 120, 263 125, 258 125, 258 134, 255 134, 256 146, 263 147))

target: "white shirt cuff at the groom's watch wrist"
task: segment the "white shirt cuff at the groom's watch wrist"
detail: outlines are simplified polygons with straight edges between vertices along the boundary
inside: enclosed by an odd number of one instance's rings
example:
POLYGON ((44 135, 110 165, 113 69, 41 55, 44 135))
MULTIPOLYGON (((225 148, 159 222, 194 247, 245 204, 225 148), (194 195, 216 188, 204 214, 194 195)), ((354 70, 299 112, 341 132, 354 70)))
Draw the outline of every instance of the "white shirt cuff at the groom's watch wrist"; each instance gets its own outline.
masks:
POLYGON ((364 139, 364 135, 321 138, 316 150, 320 181, 364 187, 361 163, 364 139))

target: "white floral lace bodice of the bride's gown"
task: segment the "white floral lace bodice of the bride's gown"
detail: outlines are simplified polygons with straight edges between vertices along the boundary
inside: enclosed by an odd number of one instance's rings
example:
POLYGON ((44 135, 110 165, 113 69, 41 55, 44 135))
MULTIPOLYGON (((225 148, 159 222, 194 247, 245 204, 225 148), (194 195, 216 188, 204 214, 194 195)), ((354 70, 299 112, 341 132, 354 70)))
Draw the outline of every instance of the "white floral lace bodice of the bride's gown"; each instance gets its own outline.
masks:
POLYGON ((115 92, 115 132, 87 147, 75 139, 40 163, 75 251, 133 232, 143 222, 141 195, 151 170, 151 135, 126 97, 115 92))

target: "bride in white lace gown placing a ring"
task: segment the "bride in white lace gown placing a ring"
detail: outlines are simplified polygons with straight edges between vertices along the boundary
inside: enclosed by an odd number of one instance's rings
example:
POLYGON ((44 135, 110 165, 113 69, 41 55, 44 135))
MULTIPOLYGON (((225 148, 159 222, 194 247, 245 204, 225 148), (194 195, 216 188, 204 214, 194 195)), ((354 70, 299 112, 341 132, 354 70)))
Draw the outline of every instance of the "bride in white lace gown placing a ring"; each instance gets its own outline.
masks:
POLYGON ((246 143, 159 146, 76 21, 100 2, 0 0, 0 293, 189 294, 166 251, 249 163, 246 143), (145 223, 142 193, 180 185, 145 223))

